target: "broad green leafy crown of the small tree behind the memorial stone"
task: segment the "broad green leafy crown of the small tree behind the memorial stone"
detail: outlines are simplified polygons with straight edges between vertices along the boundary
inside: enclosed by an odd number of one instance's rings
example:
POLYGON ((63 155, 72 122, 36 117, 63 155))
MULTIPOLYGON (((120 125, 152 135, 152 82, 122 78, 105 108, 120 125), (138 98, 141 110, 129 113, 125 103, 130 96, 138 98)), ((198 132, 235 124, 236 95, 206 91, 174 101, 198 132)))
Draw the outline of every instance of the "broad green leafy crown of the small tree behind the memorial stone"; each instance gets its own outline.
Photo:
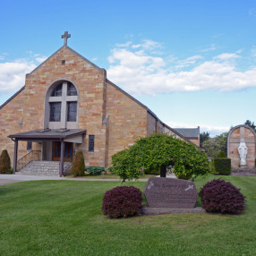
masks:
POLYGON ((175 175, 184 179, 209 173, 206 154, 195 145, 175 139, 165 133, 154 133, 112 157, 113 169, 123 181, 137 179, 141 169, 158 170, 160 166, 175 166, 175 175))

